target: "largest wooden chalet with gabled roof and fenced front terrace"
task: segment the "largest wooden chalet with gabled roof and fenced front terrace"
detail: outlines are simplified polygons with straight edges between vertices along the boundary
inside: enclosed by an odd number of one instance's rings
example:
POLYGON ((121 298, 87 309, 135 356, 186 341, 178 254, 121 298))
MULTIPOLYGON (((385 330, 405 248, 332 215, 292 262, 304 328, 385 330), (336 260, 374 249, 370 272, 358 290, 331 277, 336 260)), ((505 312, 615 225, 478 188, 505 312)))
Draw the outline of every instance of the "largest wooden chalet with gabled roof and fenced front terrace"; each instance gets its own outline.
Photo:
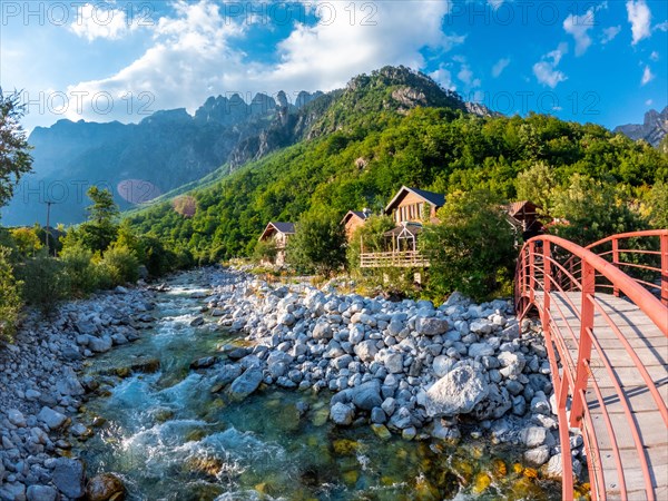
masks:
POLYGON ((385 215, 392 216, 396 226, 384 234, 386 249, 360 253, 360 267, 426 267, 429 261, 418 250, 418 239, 423 224, 438 223, 436 210, 445 204, 445 197, 438 193, 402 186, 385 207, 385 215))

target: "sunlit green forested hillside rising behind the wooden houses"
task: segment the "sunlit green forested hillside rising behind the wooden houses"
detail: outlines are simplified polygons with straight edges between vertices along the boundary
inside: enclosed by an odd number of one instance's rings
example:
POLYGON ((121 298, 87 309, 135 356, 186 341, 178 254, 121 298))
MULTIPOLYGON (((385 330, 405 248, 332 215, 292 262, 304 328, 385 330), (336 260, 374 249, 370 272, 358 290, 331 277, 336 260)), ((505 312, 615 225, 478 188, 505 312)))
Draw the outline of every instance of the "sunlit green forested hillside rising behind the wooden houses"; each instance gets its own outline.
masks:
MULTIPOLYGON (((379 87, 375 95, 381 92, 379 87)), ((191 198, 136 214, 130 223, 196 262, 207 262, 249 254, 269 219, 297 220, 307 210, 377 212, 401 185, 444 194, 489 188, 512 200, 518 174, 539 165, 554 188, 568 190, 573 178, 590 177, 618 194, 613 203, 630 204, 668 176, 668 158, 646 143, 542 115, 350 109, 336 128, 194 190, 191 198)))

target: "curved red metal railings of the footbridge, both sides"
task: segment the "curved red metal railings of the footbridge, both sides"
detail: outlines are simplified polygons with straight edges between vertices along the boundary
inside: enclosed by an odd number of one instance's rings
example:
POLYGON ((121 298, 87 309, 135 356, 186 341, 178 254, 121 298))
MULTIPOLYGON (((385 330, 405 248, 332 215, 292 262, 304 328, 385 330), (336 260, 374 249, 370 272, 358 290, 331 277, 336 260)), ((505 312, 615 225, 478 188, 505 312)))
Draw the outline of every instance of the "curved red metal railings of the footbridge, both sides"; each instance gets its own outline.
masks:
MULTIPOLYGON (((515 274, 515 307, 522 317, 533 306, 538 310, 541 320, 558 407, 563 465, 563 499, 572 499, 573 495, 569 426, 580 428, 583 432, 592 499, 607 498, 606 471, 595 468, 602 463, 598 440, 600 436, 597 438, 586 396, 588 387, 596 396, 597 407, 608 435, 607 442, 611 448, 610 455, 613 459, 619 482, 618 490, 621 498, 627 499, 625 464, 622 464, 618 445, 621 436, 617 436, 619 431, 616 434, 610 414, 606 409, 599 377, 595 375, 596 369, 603 371, 606 381, 612 384, 621 403, 638 456, 639 464, 633 464, 633 466, 639 466, 642 472, 646 498, 654 500, 652 474, 646 453, 647 444, 642 441, 642 434, 629 404, 629 396, 625 393, 615 372, 613 363, 595 335, 595 317, 598 322, 596 332, 599 333, 603 328, 611 333, 619 343, 616 347, 623 347, 628 358, 632 361, 633 369, 647 385, 656 411, 662 418, 665 426, 668 426, 668 410, 644 362, 611 318, 605 302, 605 296, 610 297, 610 294, 605 294, 605 292, 612 292, 615 296, 627 298, 658 327, 664 336, 668 336, 668 307, 666 307, 668 298, 668 229, 615 235, 597 242, 588 248, 556 236, 539 236, 530 239, 522 247, 515 274), (646 242, 645 246, 640 246, 640 252, 620 245, 620 242, 629 242, 631 238, 635 242, 638 239, 654 239, 655 242, 649 244, 646 242), (656 240, 658 240, 658 245, 656 240), (595 254, 592 252, 595 249, 602 249, 601 254, 595 254), (660 267, 644 264, 638 259, 636 262, 622 259, 622 257, 638 254, 654 256, 655 259, 656 256, 659 256, 660 267), (658 273, 659 279, 650 282, 645 278, 645 275, 644 278, 633 278, 619 269, 628 266, 629 263, 633 265, 630 266, 631 268, 641 269, 644 273, 658 273), (659 301, 646 287, 655 291, 658 288, 661 292, 661 299, 659 301), (601 327, 601 322, 605 327, 601 327), (592 355, 602 367, 592 369, 592 355), (570 419, 567 411, 569 399, 571 401, 570 419)), ((603 376, 600 379, 602 380, 603 376)))

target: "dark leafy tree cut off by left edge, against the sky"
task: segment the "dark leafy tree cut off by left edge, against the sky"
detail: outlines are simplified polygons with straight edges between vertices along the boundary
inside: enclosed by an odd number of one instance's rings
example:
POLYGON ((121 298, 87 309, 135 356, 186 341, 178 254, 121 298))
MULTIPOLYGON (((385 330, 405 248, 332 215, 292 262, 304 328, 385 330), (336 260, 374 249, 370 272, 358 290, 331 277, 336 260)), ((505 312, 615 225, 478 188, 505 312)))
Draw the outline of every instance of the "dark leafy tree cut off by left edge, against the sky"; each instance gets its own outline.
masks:
POLYGON ((0 88, 0 207, 13 195, 14 185, 32 168, 30 145, 19 120, 26 111, 18 92, 0 88))

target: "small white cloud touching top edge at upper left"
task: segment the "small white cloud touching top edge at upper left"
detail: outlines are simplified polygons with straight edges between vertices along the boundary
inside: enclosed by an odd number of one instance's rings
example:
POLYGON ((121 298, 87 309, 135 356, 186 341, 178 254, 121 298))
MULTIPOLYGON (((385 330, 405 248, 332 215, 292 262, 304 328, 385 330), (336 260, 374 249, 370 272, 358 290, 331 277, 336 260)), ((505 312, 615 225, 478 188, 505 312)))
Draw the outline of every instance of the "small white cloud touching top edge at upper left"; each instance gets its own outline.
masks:
POLYGON ((102 9, 101 3, 72 6, 76 7, 77 14, 69 30, 88 41, 96 38, 117 40, 138 27, 137 22, 128 21, 125 10, 102 9))

